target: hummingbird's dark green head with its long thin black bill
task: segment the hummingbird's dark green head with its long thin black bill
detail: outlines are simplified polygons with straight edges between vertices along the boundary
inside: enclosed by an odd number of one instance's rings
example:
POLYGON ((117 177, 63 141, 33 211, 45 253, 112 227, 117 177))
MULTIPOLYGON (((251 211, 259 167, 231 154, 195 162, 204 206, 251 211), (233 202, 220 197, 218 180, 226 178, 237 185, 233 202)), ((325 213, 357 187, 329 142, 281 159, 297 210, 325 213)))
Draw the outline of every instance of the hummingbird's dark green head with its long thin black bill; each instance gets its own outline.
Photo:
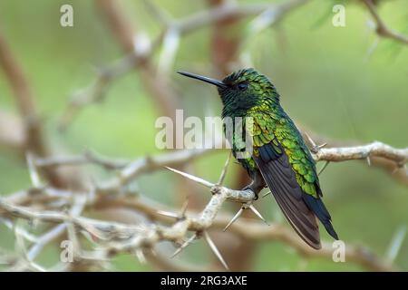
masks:
POLYGON ((178 73, 217 86, 224 106, 232 106, 234 110, 245 111, 266 100, 279 102, 279 95, 273 83, 267 76, 252 68, 231 73, 222 81, 195 73, 178 73))

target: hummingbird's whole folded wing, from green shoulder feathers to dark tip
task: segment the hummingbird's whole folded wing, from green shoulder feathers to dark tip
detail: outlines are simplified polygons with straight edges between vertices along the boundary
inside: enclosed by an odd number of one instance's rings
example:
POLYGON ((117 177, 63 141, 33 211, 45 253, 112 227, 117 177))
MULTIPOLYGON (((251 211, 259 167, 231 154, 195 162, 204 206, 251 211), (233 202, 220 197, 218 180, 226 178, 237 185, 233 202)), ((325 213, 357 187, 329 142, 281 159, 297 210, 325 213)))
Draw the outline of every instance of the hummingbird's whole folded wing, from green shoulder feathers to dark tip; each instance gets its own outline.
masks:
POLYGON ((277 140, 275 126, 265 114, 253 115, 254 160, 289 224, 310 247, 318 249, 321 245, 315 213, 306 204, 306 193, 297 182, 285 147, 277 140))

